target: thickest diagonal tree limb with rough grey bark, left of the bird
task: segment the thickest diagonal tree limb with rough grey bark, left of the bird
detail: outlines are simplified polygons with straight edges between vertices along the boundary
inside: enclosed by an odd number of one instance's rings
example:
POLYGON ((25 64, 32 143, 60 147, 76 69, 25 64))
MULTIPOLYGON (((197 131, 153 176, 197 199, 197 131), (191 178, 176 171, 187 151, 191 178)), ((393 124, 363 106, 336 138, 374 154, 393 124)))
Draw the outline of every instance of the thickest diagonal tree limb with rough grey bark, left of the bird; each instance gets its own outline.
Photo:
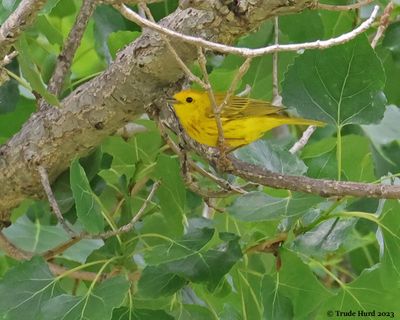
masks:
MULTIPOLYGON (((257 28, 276 15, 298 12, 309 0, 183 1, 161 23, 173 30, 221 43, 257 28), (203 7, 198 10, 193 7, 203 7)), ((187 63, 196 58, 190 45, 173 42, 187 63)), ((53 181, 71 160, 87 154, 146 106, 181 88, 183 73, 160 36, 145 30, 100 76, 72 92, 61 108, 32 115, 21 131, 0 148, 0 220, 23 199, 42 197, 37 166, 53 181)))

